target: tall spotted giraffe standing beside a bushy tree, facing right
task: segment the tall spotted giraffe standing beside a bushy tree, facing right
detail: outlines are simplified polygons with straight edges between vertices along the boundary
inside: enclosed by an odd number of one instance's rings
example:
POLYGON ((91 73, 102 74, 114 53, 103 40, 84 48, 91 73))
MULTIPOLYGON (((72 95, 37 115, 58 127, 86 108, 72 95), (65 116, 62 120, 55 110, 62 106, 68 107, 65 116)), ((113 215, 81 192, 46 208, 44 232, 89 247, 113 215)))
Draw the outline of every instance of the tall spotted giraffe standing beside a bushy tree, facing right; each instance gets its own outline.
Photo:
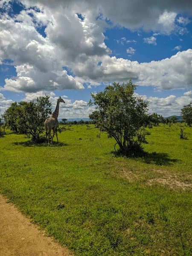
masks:
POLYGON ((52 144, 52 139, 54 135, 57 137, 57 142, 58 142, 58 136, 57 136, 57 127, 58 127, 58 113, 59 113, 59 103, 64 102, 63 99, 61 99, 61 96, 57 100, 57 105, 55 108, 55 111, 52 112, 51 117, 47 118, 44 122, 45 125, 45 131, 46 131, 46 141, 47 141, 47 136, 48 136, 48 145, 49 145, 49 138, 51 135, 51 130, 53 130, 52 137, 51 137, 51 144, 52 144))

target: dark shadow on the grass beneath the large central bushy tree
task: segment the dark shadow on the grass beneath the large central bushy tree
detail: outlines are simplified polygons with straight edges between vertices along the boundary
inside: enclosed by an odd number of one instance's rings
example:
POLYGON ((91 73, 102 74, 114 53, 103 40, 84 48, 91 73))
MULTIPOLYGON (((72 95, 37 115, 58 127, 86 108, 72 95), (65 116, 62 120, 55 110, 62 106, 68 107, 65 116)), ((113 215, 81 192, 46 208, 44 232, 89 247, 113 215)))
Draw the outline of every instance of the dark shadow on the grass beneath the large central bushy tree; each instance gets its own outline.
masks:
MULTIPOLYGON (((114 157, 126 157, 121 152, 119 151, 112 151, 114 157)), ((159 166, 169 166, 172 165, 173 163, 179 162, 181 160, 178 159, 172 159, 169 157, 169 154, 167 153, 157 153, 157 152, 152 152, 148 153, 145 151, 140 151, 140 154, 133 154, 132 156, 127 156, 126 158, 132 158, 132 159, 137 159, 142 163, 148 163, 148 164, 156 164, 159 166)))

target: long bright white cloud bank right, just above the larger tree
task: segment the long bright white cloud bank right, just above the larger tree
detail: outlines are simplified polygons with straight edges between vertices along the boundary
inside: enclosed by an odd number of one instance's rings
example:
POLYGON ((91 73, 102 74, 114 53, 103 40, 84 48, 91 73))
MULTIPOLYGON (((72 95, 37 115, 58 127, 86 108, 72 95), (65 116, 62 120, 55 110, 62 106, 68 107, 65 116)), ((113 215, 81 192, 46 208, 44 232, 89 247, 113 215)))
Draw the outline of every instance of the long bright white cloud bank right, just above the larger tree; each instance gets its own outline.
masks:
POLYGON ((105 56, 101 68, 102 81, 128 81, 134 79, 136 84, 152 85, 159 90, 188 88, 192 86, 192 49, 177 52, 171 58, 161 61, 138 63, 115 56, 105 56))

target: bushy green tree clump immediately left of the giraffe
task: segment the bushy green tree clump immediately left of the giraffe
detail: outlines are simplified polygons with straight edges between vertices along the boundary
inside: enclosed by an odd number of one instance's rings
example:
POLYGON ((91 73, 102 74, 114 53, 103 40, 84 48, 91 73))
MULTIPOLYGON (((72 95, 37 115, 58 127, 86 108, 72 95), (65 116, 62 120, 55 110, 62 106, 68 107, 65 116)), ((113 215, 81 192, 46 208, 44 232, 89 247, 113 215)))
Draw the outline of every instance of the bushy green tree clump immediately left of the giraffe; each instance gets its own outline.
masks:
POLYGON ((52 113, 49 96, 39 97, 36 102, 14 102, 5 111, 5 124, 14 132, 27 134, 37 142, 44 131, 44 121, 52 113), (14 114, 11 113, 14 111, 14 114))

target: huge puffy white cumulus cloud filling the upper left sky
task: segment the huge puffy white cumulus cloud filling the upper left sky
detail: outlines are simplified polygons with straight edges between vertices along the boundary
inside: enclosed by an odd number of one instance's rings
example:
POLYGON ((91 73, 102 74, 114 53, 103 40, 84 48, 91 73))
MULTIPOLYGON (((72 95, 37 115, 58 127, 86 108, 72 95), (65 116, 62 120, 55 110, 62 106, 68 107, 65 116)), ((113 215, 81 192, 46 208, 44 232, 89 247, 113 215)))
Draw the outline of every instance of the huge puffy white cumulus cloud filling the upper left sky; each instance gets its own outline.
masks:
POLYGON ((0 20, 0 58, 14 60, 17 72, 14 79, 6 79, 4 89, 15 92, 84 89, 62 67, 91 61, 92 56, 99 62, 102 55, 110 53, 103 42, 102 28, 67 11, 66 15, 62 11, 54 15, 47 9, 30 12, 32 17, 29 10, 20 12, 16 22, 7 15, 0 20), (36 30, 38 23, 47 24, 46 38, 36 30))

